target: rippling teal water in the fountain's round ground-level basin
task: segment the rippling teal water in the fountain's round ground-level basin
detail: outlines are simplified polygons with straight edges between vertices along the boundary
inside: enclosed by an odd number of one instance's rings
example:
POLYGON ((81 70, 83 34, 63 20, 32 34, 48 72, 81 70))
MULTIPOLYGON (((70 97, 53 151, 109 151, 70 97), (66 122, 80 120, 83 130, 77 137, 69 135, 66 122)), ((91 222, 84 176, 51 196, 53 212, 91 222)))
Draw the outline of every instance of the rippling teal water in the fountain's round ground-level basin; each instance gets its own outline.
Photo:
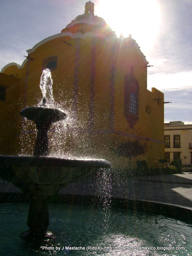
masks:
POLYGON ((20 238, 28 229, 28 206, 0 204, 0 255, 192 255, 192 225, 142 212, 85 205, 50 204, 49 229, 57 237, 34 246, 20 238))

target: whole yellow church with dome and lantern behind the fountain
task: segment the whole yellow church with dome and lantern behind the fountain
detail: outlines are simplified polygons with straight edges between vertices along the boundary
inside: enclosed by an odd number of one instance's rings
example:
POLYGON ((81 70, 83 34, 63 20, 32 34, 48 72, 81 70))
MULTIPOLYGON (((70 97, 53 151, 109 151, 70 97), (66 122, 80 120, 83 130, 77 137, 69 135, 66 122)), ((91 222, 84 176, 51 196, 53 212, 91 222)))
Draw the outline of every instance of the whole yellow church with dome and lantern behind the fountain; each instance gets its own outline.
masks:
POLYGON ((161 166, 164 94, 147 89, 148 61, 136 41, 118 38, 91 1, 27 53, 22 65, 7 64, 0 73, 1 155, 33 154, 35 125, 19 113, 39 104, 41 74, 49 68, 55 104, 68 116, 49 132, 52 156, 59 150, 62 157, 103 158, 121 169, 137 161, 161 166))

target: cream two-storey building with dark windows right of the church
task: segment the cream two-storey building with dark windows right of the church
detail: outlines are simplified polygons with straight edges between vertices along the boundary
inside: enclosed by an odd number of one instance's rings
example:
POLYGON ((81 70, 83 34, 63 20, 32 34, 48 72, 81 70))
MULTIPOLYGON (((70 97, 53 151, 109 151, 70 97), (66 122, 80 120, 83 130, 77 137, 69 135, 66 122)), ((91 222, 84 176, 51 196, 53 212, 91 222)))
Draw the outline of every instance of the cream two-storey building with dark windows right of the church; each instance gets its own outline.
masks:
POLYGON ((167 163, 182 160, 192 164, 192 124, 172 121, 164 124, 165 159, 167 163))

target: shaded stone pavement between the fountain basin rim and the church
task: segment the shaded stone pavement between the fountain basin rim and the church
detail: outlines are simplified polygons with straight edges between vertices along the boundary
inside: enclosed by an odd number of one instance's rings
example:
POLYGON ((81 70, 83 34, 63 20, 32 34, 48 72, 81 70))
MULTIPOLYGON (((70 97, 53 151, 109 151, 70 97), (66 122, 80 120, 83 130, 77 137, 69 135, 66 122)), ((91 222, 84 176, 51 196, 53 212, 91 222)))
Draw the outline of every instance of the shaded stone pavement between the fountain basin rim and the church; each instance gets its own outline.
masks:
MULTIPOLYGON (((0 180, 0 193, 20 192, 0 180)), ((122 179, 112 175, 88 177, 60 189, 60 194, 113 196, 192 207, 192 173, 166 174, 122 179)))

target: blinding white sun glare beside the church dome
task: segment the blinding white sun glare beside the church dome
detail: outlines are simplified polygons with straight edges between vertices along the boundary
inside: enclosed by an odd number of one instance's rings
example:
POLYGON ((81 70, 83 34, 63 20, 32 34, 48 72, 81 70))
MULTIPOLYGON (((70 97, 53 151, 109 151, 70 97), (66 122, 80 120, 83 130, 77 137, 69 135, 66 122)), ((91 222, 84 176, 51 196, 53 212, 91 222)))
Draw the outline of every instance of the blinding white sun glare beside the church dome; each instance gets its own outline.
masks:
POLYGON ((95 14, 102 17, 119 37, 129 34, 148 51, 155 41, 161 23, 161 12, 156 0, 100 0, 95 14))

